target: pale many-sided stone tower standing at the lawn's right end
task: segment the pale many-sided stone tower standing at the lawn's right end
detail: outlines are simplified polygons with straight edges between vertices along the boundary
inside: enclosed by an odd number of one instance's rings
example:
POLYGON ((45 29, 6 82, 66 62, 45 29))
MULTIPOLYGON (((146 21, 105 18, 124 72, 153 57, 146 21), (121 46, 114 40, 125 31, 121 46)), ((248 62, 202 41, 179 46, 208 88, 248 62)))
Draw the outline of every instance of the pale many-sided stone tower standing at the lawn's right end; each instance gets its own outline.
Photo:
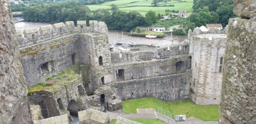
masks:
POLYGON ((189 55, 192 61, 191 100, 200 105, 219 105, 224 64, 224 31, 197 27, 189 32, 189 55))

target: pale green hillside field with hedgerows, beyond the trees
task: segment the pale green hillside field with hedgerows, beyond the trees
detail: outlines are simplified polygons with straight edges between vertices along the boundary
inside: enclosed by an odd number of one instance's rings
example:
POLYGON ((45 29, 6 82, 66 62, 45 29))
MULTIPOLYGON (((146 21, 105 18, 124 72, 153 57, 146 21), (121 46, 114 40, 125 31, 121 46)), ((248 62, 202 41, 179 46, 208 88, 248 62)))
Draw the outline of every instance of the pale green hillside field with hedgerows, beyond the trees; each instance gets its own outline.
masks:
POLYGON ((98 5, 89 5, 88 7, 91 11, 95 11, 97 9, 110 9, 111 4, 116 4, 121 11, 137 11, 142 15, 145 15, 149 10, 160 14, 165 14, 166 9, 192 12, 193 0, 182 1, 183 2, 180 2, 179 0, 171 0, 168 2, 159 2, 157 7, 153 7, 151 6, 152 0, 116 0, 98 5), (168 5, 174 5, 174 7, 168 5))

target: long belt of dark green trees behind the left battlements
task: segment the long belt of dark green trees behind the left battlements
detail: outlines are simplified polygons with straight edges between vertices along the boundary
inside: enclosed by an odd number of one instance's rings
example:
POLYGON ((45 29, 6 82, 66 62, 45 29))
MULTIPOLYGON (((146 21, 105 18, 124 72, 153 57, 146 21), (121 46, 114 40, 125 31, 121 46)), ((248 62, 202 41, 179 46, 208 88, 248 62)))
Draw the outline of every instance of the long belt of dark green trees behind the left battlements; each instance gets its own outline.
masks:
POLYGON ((100 20, 108 25, 108 29, 130 31, 135 27, 153 24, 157 19, 147 19, 156 14, 150 11, 146 17, 138 12, 120 11, 115 4, 111 9, 98 9, 91 12, 87 6, 78 2, 65 2, 62 4, 37 4, 27 7, 23 12, 26 21, 32 22, 64 22, 77 20, 100 20), (152 14, 153 13, 153 14, 152 14))

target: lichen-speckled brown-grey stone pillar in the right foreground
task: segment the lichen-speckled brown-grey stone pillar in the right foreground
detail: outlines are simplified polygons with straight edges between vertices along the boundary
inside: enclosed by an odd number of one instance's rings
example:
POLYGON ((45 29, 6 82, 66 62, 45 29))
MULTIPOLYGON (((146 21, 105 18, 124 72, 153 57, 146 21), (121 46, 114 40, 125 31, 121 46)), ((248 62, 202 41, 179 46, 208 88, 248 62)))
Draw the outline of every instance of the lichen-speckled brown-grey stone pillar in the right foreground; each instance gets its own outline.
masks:
POLYGON ((256 123, 256 1, 234 5, 239 17, 229 20, 220 124, 252 124, 256 123))

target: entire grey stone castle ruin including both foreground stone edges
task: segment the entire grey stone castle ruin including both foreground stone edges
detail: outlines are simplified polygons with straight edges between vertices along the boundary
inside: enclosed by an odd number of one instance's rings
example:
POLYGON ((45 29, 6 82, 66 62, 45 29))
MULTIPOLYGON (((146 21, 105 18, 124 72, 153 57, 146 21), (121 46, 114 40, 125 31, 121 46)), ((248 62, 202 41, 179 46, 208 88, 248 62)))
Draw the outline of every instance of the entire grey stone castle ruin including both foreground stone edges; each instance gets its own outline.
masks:
MULTIPOLYGON (((252 5, 250 8, 254 8, 252 5)), ((67 120, 65 114, 79 115, 83 110, 98 113, 90 108, 118 110, 121 100, 148 96, 166 101, 191 98, 202 105, 221 102, 220 123, 255 122, 255 14, 239 14, 250 20, 230 19, 227 36, 225 32, 197 28, 189 31, 189 42, 148 46, 147 50, 110 51, 104 22, 91 20, 89 27, 84 20, 78 21, 77 26, 72 21, 45 25, 14 36, 9 3, 1 3, 0 7, 1 34, 5 34, 0 36, 1 57, 4 56, 0 72, 0 87, 4 90, 0 102, 4 108, 0 110, 2 123, 32 123, 28 102, 32 104, 31 112, 37 113, 33 114, 37 115, 33 116, 36 120, 59 115, 67 120), (53 80, 59 84, 27 94, 26 85, 53 80)), ((104 117, 103 123, 108 123, 108 117, 104 117)))

